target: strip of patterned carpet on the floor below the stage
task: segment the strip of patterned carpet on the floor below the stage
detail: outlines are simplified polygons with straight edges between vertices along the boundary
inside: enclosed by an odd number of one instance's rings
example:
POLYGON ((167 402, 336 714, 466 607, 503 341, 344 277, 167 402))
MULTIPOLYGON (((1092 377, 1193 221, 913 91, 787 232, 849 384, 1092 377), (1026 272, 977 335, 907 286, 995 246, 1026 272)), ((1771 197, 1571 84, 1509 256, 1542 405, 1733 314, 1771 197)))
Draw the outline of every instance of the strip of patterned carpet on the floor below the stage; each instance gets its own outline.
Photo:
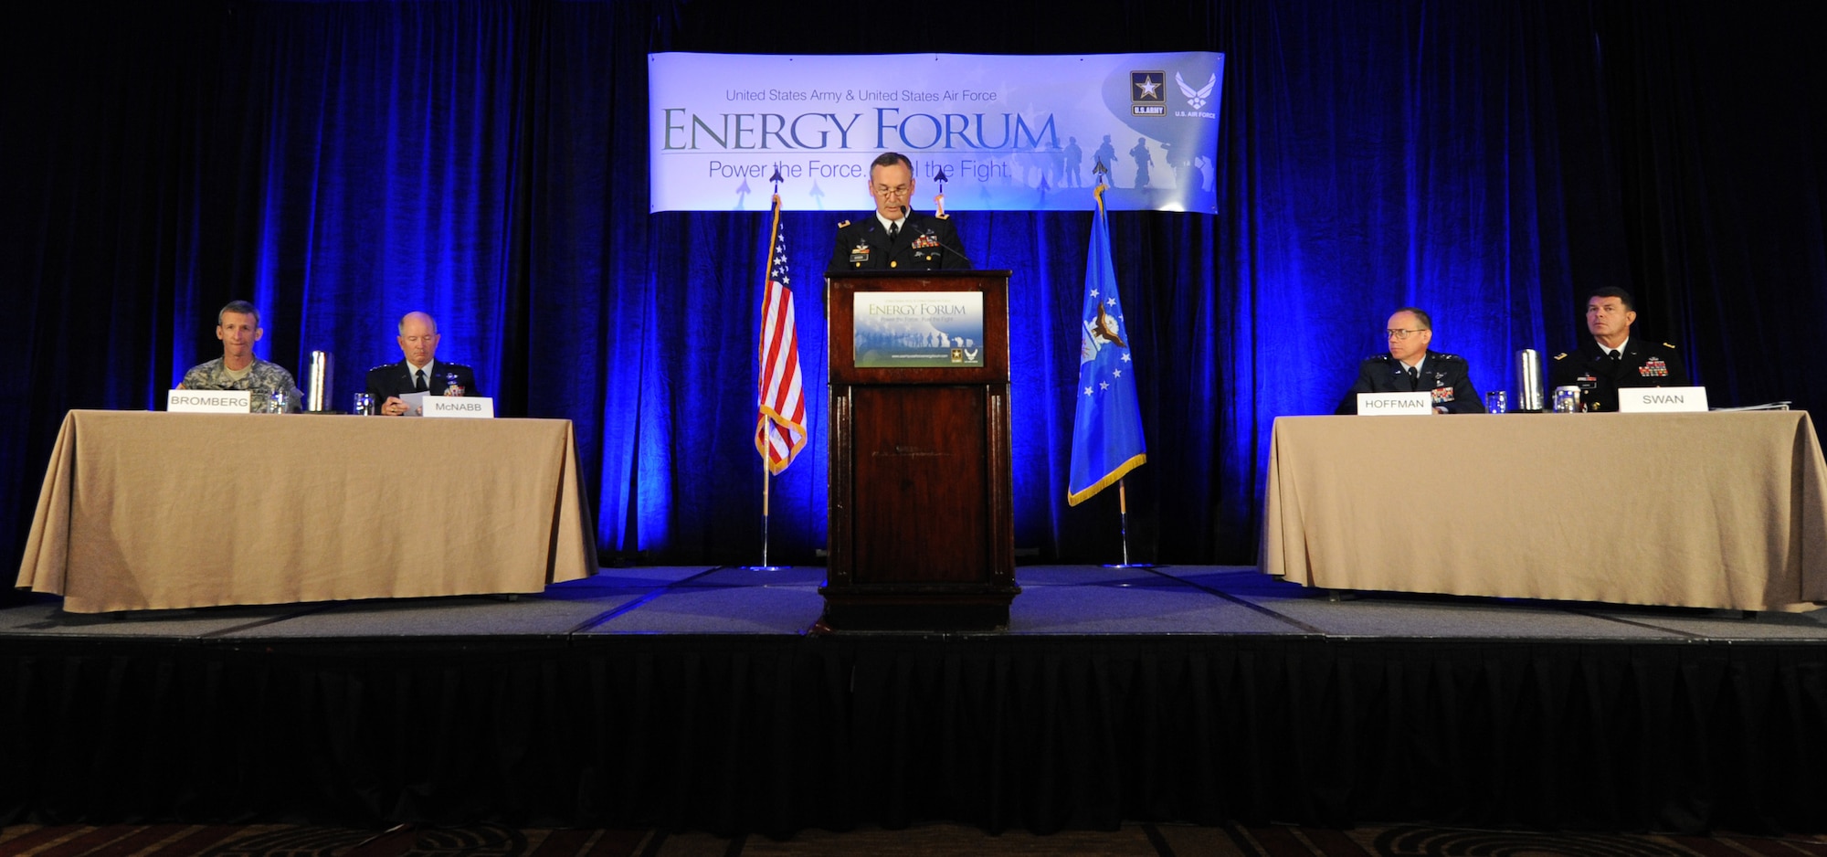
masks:
POLYGON ((1177 855, 1177 857, 1743 857, 1827 855, 1827 837, 1675 837, 1527 833, 1425 826, 1317 830, 1281 826, 1199 828, 1124 824, 1113 831, 988 835, 957 824, 908 830, 808 830, 787 841, 723 839, 656 830, 303 826, 33 826, 0 828, 0 857, 734 857, 734 855, 1177 855))

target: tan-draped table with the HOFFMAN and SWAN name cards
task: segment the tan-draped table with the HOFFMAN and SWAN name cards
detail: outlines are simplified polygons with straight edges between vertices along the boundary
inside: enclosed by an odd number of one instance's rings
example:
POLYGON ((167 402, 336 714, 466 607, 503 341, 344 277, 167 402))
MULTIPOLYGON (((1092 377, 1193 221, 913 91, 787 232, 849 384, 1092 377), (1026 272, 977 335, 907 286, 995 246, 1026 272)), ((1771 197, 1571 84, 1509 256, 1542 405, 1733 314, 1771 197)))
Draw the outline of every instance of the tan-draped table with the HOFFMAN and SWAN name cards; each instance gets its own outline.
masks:
POLYGON ((1261 548, 1337 590, 1807 610, 1827 466, 1803 411, 1283 417, 1261 548))

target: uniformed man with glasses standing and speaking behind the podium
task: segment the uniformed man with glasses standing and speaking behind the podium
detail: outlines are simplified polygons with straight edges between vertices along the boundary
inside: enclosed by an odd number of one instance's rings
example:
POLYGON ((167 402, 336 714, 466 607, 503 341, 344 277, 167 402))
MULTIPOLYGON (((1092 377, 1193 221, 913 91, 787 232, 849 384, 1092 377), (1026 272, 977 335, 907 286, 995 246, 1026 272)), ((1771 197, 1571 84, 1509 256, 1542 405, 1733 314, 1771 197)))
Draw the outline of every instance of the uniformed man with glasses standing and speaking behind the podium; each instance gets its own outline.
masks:
POLYGON ((870 163, 870 196, 875 214, 837 225, 828 274, 846 270, 937 270, 968 269, 957 228, 945 216, 908 208, 914 199, 914 164, 899 152, 870 163))

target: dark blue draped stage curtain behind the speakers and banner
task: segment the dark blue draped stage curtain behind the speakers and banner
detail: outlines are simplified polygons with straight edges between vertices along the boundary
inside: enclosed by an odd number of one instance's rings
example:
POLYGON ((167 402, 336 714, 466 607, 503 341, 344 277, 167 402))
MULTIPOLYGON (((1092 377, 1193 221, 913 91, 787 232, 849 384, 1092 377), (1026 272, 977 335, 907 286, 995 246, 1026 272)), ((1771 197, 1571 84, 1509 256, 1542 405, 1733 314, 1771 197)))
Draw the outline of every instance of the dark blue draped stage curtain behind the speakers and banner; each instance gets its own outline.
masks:
MULTIPOLYGON (((1516 349, 1577 345, 1586 289, 1622 285, 1639 336, 1681 345, 1716 404, 1827 402, 1811 4, 1237 0, 1087 18, 1023 2, 873 26, 833 2, 73 0, 11 24, 15 557, 62 415, 159 406, 217 353, 216 309, 248 298, 263 356, 298 371, 334 354, 333 404, 398 358, 402 312, 437 314, 438 356, 475 365, 501 413, 576 422, 607 555, 758 561, 769 188, 734 212, 649 214, 649 51, 1228 55, 1220 212, 1111 219, 1149 448, 1127 481, 1136 559, 1250 561, 1273 418, 1330 413, 1405 303, 1502 389, 1516 349)), ((1118 163, 1118 185, 1131 172, 1118 163)), ((862 183, 829 190, 828 212, 782 227, 811 440, 769 486, 776 561, 824 546, 818 274, 837 221, 868 206, 862 183)), ((1114 492, 1065 504, 1089 214, 956 217, 983 267, 1014 272, 1018 548, 1114 561, 1114 492)), ((1542 462, 1569 492, 1571 468, 1542 462)))

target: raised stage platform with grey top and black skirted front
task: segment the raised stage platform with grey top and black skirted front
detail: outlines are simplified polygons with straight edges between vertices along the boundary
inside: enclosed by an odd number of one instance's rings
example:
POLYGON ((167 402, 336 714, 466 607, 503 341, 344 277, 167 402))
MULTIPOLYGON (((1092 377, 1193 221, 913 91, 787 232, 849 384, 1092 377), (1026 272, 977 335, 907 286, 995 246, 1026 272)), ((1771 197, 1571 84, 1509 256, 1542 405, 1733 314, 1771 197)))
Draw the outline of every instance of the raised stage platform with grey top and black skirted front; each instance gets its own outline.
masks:
POLYGON ((1827 830, 1827 610, 1023 566, 999 632, 809 634, 824 570, 0 608, 0 822, 1827 830))

